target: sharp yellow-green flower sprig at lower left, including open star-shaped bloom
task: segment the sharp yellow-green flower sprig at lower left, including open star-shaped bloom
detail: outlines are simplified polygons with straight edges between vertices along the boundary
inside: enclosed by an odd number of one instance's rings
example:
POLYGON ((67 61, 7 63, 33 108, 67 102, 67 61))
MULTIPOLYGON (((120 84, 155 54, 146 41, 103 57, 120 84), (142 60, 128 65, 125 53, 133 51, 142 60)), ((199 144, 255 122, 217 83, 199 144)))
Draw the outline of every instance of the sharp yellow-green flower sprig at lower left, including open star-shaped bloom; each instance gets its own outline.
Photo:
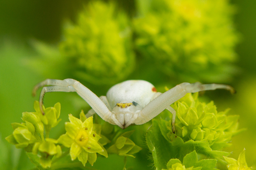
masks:
POLYGON ((29 159, 39 169, 81 167, 87 162, 93 166, 97 153, 105 157, 108 157, 108 152, 134 157, 132 154, 141 150, 129 139, 134 131, 120 134, 122 129, 115 131, 107 122, 103 125, 93 124, 93 117, 86 118, 83 111, 80 119, 72 114, 68 115, 70 122, 65 123, 65 134, 57 139, 49 138, 51 129, 61 121, 60 103, 56 103, 54 107, 43 106, 45 115, 41 113, 38 101, 35 101, 34 108, 36 112, 22 113, 23 123, 12 123, 14 131, 6 140, 17 148, 24 148, 29 159))

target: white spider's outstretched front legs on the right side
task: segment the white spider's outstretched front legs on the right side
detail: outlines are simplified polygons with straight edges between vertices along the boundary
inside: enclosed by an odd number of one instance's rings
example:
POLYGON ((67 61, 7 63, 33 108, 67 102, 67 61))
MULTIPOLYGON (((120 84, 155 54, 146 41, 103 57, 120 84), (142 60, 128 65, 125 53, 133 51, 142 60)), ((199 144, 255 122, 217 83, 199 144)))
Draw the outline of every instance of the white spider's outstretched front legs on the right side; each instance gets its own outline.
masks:
MULTIPOLYGON (((225 84, 201 84, 197 83, 181 83, 174 88, 169 89, 165 93, 153 99, 149 104, 147 104, 137 116, 134 121, 135 124, 144 124, 149 122, 152 118, 156 117, 159 113, 163 112, 164 109, 170 109, 170 105, 180 98, 184 97, 186 93, 195 93, 200 91, 208 91, 215 89, 227 89, 232 93, 235 93, 233 87, 225 84)), ((173 113, 172 109, 169 110, 173 113)), ((176 112, 174 112, 176 114, 176 112)), ((173 113, 173 116, 174 116, 173 113)), ((175 117, 173 117, 173 132, 175 132, 175 117)))

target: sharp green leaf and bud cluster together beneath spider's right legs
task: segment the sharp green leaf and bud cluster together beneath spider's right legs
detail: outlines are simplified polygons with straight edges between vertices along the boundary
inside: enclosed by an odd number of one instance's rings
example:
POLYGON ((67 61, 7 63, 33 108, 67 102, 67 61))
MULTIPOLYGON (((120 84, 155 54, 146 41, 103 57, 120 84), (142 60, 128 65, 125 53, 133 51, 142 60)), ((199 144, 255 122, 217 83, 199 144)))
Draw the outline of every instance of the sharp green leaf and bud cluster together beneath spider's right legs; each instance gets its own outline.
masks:
MULTIPOLYGON (((162 113, 161 118, 152 119, 152 126, 147 130, 146 142, 152 153, 154 166, 166 169, 170 159, 179 159, 185 167, 180 162, 175 162, 179 164, 173 163, 167 168, 196 168, 194 164, 186 163, 186 159, 191 159, 189 153, 193 151, 200 154, 199 162, 209 165, 202 166, 202 169, 213 169, 217 160, 225 163, 223 156, 230 153, 222 149, 230 146, 232 136, 244 131, 238 129, 239 117, 227 116, 229 109, 217 112, 213 102, 201 103, 198 93, 186 94, 172 107, 177 111, 176 133, 171 130, 172 115, 169 113, 162 113), (212 161, 212 164, 208 161, 212 161)), ((198 161, 197 157, 194 159, 198 161)))

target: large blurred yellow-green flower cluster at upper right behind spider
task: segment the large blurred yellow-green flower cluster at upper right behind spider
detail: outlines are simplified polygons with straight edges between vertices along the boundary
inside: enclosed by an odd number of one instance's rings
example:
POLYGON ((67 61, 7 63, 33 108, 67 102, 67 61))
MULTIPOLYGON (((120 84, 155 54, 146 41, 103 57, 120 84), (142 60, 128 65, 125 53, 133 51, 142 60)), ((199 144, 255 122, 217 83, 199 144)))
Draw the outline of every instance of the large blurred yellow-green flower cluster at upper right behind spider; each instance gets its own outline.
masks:
POLYGON ((227 81, 238 42, 229 1, 138 1, 135 47, 181 81, 227 81), (189 75, 189 76, 188 76, 189 75), (211 76, 209 76, 211 75, 211 76))

